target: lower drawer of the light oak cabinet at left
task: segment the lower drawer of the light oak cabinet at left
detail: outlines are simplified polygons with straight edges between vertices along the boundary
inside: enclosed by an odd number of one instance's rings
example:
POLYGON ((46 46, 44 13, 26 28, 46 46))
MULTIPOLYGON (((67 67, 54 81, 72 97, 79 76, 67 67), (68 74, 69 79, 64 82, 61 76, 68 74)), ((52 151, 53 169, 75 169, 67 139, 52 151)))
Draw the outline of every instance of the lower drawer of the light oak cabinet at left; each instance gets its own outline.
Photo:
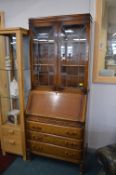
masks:
POLYGON ((22 147, 20 138, 3 138, 4 151, 22 155, 22 147))

